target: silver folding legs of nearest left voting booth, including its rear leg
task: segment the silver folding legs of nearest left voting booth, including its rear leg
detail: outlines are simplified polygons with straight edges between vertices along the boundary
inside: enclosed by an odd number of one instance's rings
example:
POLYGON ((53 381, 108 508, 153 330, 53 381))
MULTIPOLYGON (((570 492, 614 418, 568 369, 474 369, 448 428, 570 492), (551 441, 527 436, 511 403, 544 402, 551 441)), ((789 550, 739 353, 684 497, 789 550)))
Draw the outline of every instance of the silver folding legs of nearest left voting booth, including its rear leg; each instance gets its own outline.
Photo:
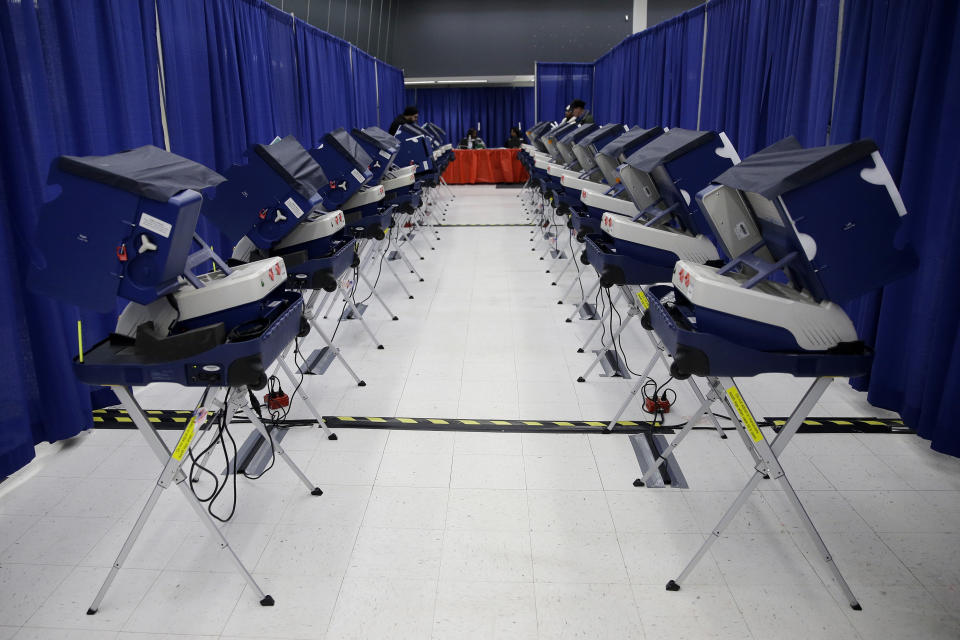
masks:
MULTIPOLYGON (((130 534, 124 541, 123 547, 120 549, 120 553, 117 555, 116 561, 113 563, 113 566, 110 568, 107 577, 104 579, 103 584, 100 587, 100 590, 97 592, 96 597, 94 597, 93 602, 90 604, 90 608, 87 609, 87 615, 93 615, 99 610, 104 596, 106 596, 107 591, 110 589, 110 586, 116 579, 117 574, 123 567, 123 563, 130 555, 133 545, 136 543, 137 538, 143 531, 143 527, 150 518, 150 514, 153 512, 154 507, 156 507, 157 501, 160 499, 160 495, 172 484, 179 486, 187 502, 196 512, 200 522, 207 527, 207 530, 217 542, 217 545, 220 547, 220 549, 225 550, 230 555, 230 560, 233 562, 240 575, 243 576, 244 580, 247 581, 247 584, 250 585, 250 588, 253 590, 253 592, 257 595, 260 604, 265 607, 273 606, 273 597, 264 593, 263 589, 260 588, 260 585, 257 584, 257 581, 253 578, 253 575, 251 575, 250 571, 247 570, 239 556, 237 556, 236 552, 230 546, 230 543, 223 535, 223 532, 220 531, 219 527, 217 527, 211 515, 207 513, 207 510, 193 495, 187 476, 182 470, 183 463, 188 457, 187 451, 190 448, 190 443, 192 442, 197 430, 203 426, 203 423, 207 419, 206 409, 201 408, 194 412, 190 421, 187 423, 179 442, 177 443, 176 447, 174 447, 173 451, 171 451, 163 441, 163 438, 160 437, 160 434, 157 433, 157 430, 147 418, 146 414, 143 412, 140 404, 133 397, 133 392, 128 387, 124 386, 113 386, 111 388, 113 389, 114 393, 117 394, 121 404, 123 405, 124 409, 127 410, 127 414, 130 416, 131 420, 133 420, 133 423, 140 431, 140 434, 144 437, 144 439, 147 441, 147 444, 157 456, 160 464, 163 465, 163 469, 157 478, 157 483, 154 485, 153 491, 150 492, 150 497, 147 498, 146 504, 143 506, 143 509, 141 509, 140 515, 137 518, 136 523, 133 525, 133 529, 131 529, 130 534)), ((249 418, 254 428, 259 431, 264 438, 269 438, 270 435, 267 433, 263 423, 247 405, 245 394, 246 391, 240 388, 233 388, 228 391, 226 406, 224 408, 224 410, 227 412, 226 415, 228 419, 232 415, 232 408, 239 408, 241 411, 243 411, 247 418, 249 418)), ((274 448, 277 452, 277 455, 279 455, 284 462, 290 466, 290 469, 293 470, 298 478, 300 478, 300 481, 303 482, 304 486, 307 487, 307 490, 310 491, 312 495, 323 495, 323 491, 310 482, 307 476, 304 475, 303 471, 300 470, 300 467, 298 467, 283 450, 279 442, 274 442, 274 448)))

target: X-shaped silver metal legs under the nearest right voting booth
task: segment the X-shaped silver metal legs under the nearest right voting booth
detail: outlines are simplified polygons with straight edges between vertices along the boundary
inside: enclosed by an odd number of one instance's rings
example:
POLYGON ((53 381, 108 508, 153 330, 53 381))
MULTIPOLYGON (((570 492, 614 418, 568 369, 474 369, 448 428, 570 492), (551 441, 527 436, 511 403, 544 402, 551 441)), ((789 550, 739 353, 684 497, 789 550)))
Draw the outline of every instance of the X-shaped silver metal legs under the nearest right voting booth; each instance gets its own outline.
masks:
POLYGON ((760 428, 757 426, 757 422, 753 418, 753 414, 750 412, 749 407, 747 407, 747 404, 744 401, 740 390, 737 388, 736 383, 733 381, 733 378, 723 377, 718 379, 717 382, 719 383, 721 389, 725 390, 724 402, 735 410, 736 414, 739 416, 737 424, 740 425, 748 434, 746 440, 749 442, 749 448, 757 460, 757 465, 753 475, 750 477, 750 480, 747 481, 747 484, 740 491, 739 495, 737 495, 736 499, 733 501, 733 504, 730 505, 726 513, 723 514, 723 517, 720 518, 720 522, 718 522, 717 526, 713 528, 711 534, 707 536, 706 540, 704 540, 703 544, 700 546, 700 549, 696 552, 690 562, 687 563, 687 566, 684 567, 683 571, 680 572, 680 575, 677 576, 676 579, 667 583, 667 591, 680 590, 680 585, 694 570, 700 559, 703 558, 707 551, 710 550, 710 547, 713 546, 713 543, 717 540, 717 538, 720 537, 720 535, 723 533, 723 530, 726 529, 733 518, 736 517, 740 509, 743 508, 743 505, 746 504, 750 494, 753 493, 753 491, 757 488, 760 480, 765 477, 769 477, 780 482, 780 486, 783 489, 783 492, 786 494, 790 505, 800 518, 800 522, 803 523, 807 534, 817 547, 817 550, 823 557, 824 562, 826 562, 827 566, 829 567, 834 579, 837 581, 837 584, 843 591, 843 595, 847 598, 847 602, 850 603, 850 608, 855 611, 861 610, 862 607, 860 606, 860 603, 853 595, 850 585, 848 585, 847 581, 843 578, 843 574, 840 573, 839 567, 837 567, 833 556, 827 549, 827 545, 820 536, 820 532, 817 531, 817 528, 814 526, 813 521, 807 514, 806 509, 804 509, 803 503, 800 502, 800 498, 797 496, 797 492, 794 491, 793 485, 790 484, 787 474, 780 465, 779 460, 780 454, 790 443, 790 440, 797 433, 800 425, 803 424, 803 421, 813 410, 814 406, 816 406, 817 401, 820 400, 823 392, 826 391, 827 387, 830 386, 831 381, 832 378, 829 377, 822 377, 814 380, 813 384, 810 385, 810 388, 807 389, 807 392, 803 395, 803 398, 800 400, 800 403, 797 405, 796 409, 794 409, 790 419, 787 420, 785 425, 783 425, 783 427, 780 429, 780 432, 776 435, 776 437, 774 437, 773 441, 768 443, 763 436, 763 432, 760 431, 760 428))

